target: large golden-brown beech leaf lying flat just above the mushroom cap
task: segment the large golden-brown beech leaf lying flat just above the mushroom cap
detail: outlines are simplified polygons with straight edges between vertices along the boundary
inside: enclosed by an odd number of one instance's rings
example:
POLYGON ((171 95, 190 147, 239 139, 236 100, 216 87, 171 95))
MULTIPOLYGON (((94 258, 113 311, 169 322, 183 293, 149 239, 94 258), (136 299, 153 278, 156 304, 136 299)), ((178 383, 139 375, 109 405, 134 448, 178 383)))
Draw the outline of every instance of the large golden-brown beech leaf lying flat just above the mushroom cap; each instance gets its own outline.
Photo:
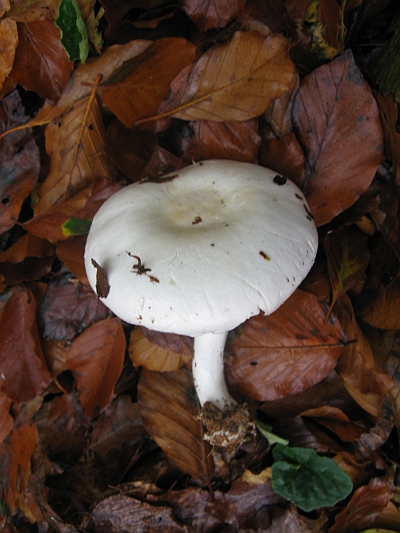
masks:
POLYGON ((159 115, 216 122, 261 115, 291 87, 289 46, 280 35, 236 32, 178 74, 159 115))

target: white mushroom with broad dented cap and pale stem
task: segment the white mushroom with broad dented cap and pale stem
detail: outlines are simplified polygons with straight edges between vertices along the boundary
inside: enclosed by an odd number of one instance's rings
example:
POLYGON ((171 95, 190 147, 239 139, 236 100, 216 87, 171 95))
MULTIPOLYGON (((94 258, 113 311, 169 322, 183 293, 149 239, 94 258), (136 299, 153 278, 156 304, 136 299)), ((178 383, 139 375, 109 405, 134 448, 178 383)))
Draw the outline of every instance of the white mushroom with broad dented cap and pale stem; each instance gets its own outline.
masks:
POLYGON ((258 165, 209 160, 110 197, 93 219, 85 267, 124 321, 194 337, 200 404, 224 413, 239 408, 224 378, 228 331, 275 311, 310 270, 317 246, 296 185, 258 165))

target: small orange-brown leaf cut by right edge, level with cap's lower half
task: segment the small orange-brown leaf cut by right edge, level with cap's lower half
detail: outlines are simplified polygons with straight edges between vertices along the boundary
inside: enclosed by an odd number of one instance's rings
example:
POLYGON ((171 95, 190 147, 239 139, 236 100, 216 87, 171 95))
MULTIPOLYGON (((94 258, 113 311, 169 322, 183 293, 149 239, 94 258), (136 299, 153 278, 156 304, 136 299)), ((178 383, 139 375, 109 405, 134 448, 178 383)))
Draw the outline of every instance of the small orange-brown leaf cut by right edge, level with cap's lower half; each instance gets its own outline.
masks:
POLYGON ((393 281, 387 286, 379 285, 377 293, 361 309, 357 316, 381 329, 400 328, 400 282, 393 281))

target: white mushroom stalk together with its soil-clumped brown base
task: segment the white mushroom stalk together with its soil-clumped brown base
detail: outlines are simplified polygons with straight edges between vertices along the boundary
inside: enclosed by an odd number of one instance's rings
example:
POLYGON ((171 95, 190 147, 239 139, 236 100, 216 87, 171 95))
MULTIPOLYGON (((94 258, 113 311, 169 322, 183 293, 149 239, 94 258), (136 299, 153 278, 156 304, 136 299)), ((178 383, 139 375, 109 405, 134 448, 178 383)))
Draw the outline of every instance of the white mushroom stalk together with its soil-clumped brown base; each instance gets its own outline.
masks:
POLYGON ((235 453, 254 434, 246 405, 229 394, 224 374, 224 348, 227 332, 206 333, 194 340, 193 379, 201 404, 199 420, 204 439, 229 453, 235 453))

